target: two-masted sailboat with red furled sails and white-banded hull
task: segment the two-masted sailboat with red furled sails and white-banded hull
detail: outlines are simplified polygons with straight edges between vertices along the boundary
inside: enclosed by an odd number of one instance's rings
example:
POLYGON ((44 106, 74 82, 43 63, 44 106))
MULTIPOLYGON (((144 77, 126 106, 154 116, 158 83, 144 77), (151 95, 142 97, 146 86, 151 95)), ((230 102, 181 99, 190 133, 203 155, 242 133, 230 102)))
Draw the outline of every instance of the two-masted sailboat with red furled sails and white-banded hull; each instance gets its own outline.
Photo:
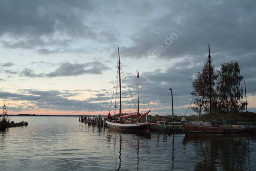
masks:
MULTIPOLYGON (((148 123, 148 122, 140 123, 140 119, 143 116, 147 115, 151 110, 149 110, 148 112, 146 112, 146 113, 142 114, 141 116, 139 116, 139 112, 140 112, 139 111, 139 78, 140 78, 139 71, 138 71, 138 75, 137 75, 137 89, 138 89, 138 109, 137 109, 137 112, 126 114, 126 115, 122 114, 121 64, 120 64, 119 47, 118 47, 118 75, 119 75, 119 98, 120 98, 119 101, 120 101, 120 106, 119 107, 114 106, 114 107, 115 108, 119 108, 120 118, 116 118, 116 117, 113 118, 111 116, 111 114, 110 114, 110 109, 109 109, 109 113, 108 113, 107 120, 106 120, 108 128, 110 128, 110 129, 118 129, 118 130, 126 130, 126 131, 132 130, 132 131, 143 131, 143 132, 145 131, 145 132, 149 132, 149 125, 157 124, 157 123, 148 123), (137 116, 137 120, 128 120, 128 119, 126 119, 126 118, 129 118, 131 116, 137 116)), ((115 85, 117 86, 117 83, 115 85)), ((127 85, 128 85, 128 83, 127 83, 127 85)), ((111 103, 112 103, 112 101, 111 101, 111 103)), ((110 107, 111 107, 111 105, 110 105, 110 107)))

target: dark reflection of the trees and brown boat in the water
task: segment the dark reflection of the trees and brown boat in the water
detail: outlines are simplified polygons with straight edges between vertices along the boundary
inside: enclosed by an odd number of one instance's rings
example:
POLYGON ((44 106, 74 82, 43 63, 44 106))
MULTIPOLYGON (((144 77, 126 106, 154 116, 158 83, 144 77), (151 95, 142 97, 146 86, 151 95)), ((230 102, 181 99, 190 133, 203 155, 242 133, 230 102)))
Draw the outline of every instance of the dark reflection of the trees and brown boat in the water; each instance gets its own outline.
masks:
POLYGON ((195 170, 243 171, 251 170, 250 137, 255 135, 186 134, 182 143, 193 145, 195 170))

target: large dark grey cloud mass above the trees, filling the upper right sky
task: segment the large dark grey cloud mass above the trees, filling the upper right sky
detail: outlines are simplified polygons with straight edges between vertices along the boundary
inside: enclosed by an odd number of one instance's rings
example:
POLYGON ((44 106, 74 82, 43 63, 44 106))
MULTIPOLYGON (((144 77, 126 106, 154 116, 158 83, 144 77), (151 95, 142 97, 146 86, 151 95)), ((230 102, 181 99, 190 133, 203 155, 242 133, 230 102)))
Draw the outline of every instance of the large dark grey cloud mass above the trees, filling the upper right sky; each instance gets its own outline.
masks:
POLYGON ((165 71, 143 73, 146 94, 151 94, 151 99, 161 99, 172 87, 173 91, 181 90, 175 95, 175 99, 180 101, 178 105, 189 104, 189 93, 192 91, 189 78, 201 71, 202 63, 207 58, 208 43, 213 64, 220 67, 223 62, 239 61, 240 74, 247 80, 247 89, 250 89, 247 93, 256 93, 253 86, 256 84, 255 1, 162 1, 158 4, 164 4, 168 12, 157 19, 144 20, 144 25, 145 22, 147 25, 132 34, 132 46, 120 47, 120 55, 145 58, 163 46, 164 52, 156 60, 186 57, 190 60, 182 62, 180 68, 176 63, 175 67, 165 71), (170 38, 172 33, 177 34, 177 39, 168 45, 166 36, 170 38), (148 88, 147 84, 150 85, 148 88))

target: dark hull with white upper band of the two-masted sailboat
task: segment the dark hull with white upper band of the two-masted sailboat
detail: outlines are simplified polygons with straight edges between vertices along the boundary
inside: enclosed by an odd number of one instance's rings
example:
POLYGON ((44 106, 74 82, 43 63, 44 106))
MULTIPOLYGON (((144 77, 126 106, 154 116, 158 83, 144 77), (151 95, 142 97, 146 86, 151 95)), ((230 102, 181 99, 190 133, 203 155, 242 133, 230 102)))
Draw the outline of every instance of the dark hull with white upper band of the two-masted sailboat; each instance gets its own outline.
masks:
POLYGON ((107 123, 109 129, 149 132, 148 122, 134 123, 134 124, 123 124, 123 123, 113 123, 113 122, 106 121, 106 123, 107 123))

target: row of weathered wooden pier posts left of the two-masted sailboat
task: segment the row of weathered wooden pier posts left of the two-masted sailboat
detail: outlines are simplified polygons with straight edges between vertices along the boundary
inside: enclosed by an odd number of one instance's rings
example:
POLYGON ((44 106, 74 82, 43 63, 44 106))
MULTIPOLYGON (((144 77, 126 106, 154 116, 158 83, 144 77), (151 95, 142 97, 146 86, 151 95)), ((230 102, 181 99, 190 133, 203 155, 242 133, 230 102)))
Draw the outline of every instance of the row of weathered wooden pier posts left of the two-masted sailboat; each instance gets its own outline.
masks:
POLYGON ((80 122, 92 124, 92 125, 103 127, 103 128, 108 127, 106 124, 106 119, 107 119, 106 116, 102 116, 102 115, 81 115, 81 116, 79 116, 80 122))

